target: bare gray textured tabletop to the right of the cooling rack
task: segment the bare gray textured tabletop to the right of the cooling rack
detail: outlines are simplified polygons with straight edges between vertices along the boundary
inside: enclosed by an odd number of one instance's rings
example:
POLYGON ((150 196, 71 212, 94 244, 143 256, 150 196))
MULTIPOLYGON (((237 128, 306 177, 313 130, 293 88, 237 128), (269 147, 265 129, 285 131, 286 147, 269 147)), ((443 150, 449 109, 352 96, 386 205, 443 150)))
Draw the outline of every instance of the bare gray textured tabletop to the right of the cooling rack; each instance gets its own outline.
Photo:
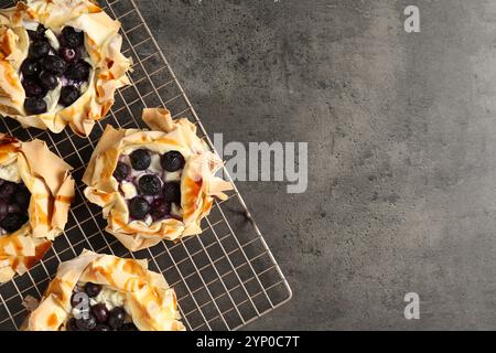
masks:
POLYGON ((209 132, 309 142, 305 193, 238 183, 294 291, 250 329, 495 328, 495 1, 140 7, 209 132))

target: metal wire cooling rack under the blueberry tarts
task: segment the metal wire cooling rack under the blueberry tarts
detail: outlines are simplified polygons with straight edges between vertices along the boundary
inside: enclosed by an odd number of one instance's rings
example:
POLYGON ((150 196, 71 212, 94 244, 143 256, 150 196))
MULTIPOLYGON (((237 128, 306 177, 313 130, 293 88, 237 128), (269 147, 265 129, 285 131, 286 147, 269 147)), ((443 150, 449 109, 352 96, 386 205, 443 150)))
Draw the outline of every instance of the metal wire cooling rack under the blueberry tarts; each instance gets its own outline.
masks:
MULTIPOLYGON (((143 107, 168 107, 174 117, 186 117, 207 137, 190 100, 169 66, 133 0, 100 1, 112 18, 122 23, 123 52, 133 58, 131 86, 116 94, 116 104, 98 121, 89 138, 79 138, 69 129, 55 135, 23 129, 12 119, 0 119, 0 130, 21 140, 39 138, 52 151, 74 167, 76 200, 69 211, 66 231, 45 258, 28 274, 0 286, 0 330, 17 330, 26 317, 22 300, 41 298, 61 261, 79 255, 84 248, 121 257, 149 259, 150 269, 164 275, 175 289, 184 324, 188 330, 237 330, 283 304, 291 289, 279 265, 252 221, 236 185, 228 200, 216 201, 204 220, 201 236, 177 244, 161 243, 152 248, 129 253, 105 232, 101 210, 83 196, 82 176, 104 127, 144 127, 143 107)), ((12 1, 0 1, 0 7, 12 1)), ((233 182, 227 171, 226 179, 233 182)))

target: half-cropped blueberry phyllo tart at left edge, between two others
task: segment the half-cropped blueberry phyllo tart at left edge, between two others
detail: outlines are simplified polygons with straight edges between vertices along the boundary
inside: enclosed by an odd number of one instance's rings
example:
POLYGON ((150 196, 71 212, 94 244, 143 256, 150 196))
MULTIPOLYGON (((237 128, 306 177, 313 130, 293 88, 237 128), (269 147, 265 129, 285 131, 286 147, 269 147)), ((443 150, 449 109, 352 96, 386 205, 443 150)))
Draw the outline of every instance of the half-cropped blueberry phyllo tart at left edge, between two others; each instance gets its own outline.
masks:
POLYGON ((0 133, 0 282, 29 270, 64 229, 74 197, 69 170, 45 142, 0 133))

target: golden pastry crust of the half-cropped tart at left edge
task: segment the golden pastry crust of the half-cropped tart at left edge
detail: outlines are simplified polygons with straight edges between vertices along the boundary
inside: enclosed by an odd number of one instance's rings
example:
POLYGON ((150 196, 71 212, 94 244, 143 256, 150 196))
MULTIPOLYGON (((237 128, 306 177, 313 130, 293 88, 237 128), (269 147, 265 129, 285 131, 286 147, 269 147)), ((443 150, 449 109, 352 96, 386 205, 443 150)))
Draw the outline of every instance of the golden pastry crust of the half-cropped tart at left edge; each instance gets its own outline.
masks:
POLYGON ((31 192, 30 221, 19 231, 0 236, 0 282, 22 275, 36 264, 67 222, 74 199, 71 165, 52 153, 45 142, 21 142, 0 133, 0 167, 15 164, 31 192))

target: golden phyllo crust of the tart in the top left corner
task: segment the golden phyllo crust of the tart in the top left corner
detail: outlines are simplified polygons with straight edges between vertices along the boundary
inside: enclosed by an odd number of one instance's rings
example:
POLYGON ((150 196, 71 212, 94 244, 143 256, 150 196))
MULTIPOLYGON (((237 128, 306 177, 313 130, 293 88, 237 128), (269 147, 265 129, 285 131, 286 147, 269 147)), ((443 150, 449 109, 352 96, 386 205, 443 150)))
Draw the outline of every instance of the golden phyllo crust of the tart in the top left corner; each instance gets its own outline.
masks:
POLYGON ((121 53, 120 23, 89 0, 29 0, 0 10, 0 115, 10 116, 23 127, 61 132, 69 125, 75 133, 88 136, 96 120, 114 104, 117 88, 129 84, 131 63, 121 53), (29 35, 24 22, 37 21, 55 33, 65 25, 82 30, 94 69, 88 89, 72 106, 26 116, 25 93, 19 68, 28 56, 29 35))

